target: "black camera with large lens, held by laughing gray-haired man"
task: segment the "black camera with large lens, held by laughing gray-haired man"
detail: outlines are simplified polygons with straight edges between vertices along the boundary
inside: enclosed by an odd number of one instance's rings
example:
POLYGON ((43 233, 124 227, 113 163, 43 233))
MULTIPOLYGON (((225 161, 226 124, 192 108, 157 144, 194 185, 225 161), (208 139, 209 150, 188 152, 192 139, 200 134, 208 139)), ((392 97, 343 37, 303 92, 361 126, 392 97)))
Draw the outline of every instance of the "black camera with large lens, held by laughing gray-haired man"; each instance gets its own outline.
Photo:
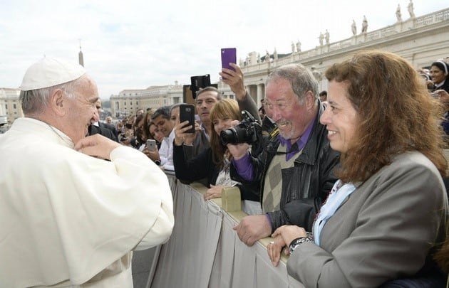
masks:
POLYGON ((220 133, 222 145, 248 143, 254 144, 262 137, 262 127, 247 110, 242 111, 243 119, 237 126, 220 133))

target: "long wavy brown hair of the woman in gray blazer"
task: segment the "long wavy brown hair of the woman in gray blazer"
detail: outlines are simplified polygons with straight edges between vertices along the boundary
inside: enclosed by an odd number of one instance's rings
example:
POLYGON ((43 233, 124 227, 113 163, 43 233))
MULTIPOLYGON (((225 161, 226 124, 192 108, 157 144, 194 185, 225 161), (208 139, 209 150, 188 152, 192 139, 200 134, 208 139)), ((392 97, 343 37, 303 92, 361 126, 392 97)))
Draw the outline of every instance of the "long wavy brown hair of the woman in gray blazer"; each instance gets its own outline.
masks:
POLYGON ((336 171, 342 181, 365 181, 391 164, 395 155, 412 150, 427 156, 445 176, 442 111, 407 60, 383 51, 361 51, 332 65, 326 78, 347 85, 346 96, 361 119, 358 137, 341 155, 341 169, 336 171))

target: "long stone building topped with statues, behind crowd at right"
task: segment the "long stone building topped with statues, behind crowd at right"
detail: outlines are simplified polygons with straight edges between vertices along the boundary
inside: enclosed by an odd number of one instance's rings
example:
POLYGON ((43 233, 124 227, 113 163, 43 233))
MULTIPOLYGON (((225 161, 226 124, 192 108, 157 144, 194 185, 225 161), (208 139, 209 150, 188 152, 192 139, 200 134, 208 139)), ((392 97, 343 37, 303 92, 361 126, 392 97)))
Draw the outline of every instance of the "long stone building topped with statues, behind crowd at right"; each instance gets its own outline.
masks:
MULTIPOLYGON (((265 94, 267 76, 275 68, 288 63, 301 63, 312 70, 319 81, 319 90, 326 90, 326 68, 349 58, 358 50, 367 49, 396 53, 409 60, 416 68, 428 68, 435 60, 449 56, 449 9, 420 17, 411 16, 376 31, 354 33, 351 38, 335 43, 320 43, 314 49, 296 50, 279 58, 277 55, 270 55, 269 60, 261 60, 257 53, 252 52, 244 62, 240 60, 240 65, 247 91, 259 103, 265 94)), ((224 92, 229 90, 225 86, 227 85, 219 83, 219 89, 224 92)))

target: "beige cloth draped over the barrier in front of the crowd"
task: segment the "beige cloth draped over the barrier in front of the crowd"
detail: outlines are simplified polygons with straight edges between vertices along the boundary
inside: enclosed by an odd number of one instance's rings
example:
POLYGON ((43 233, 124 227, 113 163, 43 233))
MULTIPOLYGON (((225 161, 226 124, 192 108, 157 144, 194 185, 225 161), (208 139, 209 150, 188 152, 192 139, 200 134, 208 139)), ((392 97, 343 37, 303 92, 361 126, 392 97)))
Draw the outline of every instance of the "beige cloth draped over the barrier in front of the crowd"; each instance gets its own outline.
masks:
MULTIPOLYGON (((222 199, 204 201, 206 188, 184 185, 168 175, 175 205, 175 228, 156 253, 147 287, 304 287, 287 274, 285 260, 273 267, 267 254, 270 238, 252 247, 232 227, 246 214, 226 212, 222 199)), ((227 194, 227 193, 224 193, 227 194)), ((234 193, 232 195, 235 201, 234 193)), ((238 198, 237 198, 238 199, 238 198)), ((232 199, 225 206, 236 207, 232 199)))

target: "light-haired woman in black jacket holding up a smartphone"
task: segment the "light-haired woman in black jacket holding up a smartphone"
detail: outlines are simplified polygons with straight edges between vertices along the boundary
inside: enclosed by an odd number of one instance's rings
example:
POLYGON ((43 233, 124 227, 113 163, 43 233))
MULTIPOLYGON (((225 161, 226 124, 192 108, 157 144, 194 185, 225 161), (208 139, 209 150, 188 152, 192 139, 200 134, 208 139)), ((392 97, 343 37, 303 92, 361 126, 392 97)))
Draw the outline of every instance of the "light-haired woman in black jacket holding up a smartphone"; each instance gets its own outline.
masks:
MULTIPOLYGON (((195 158, 186 159, 184 149, 185 133, 191 129, 188 121, 175 125, 175 141, 173 145, 173 163, 175 165, 176 178, 182 181, 198 181, 207 178, 207 187, 205 200, 220 198, 222 188, 227 186, 237 186, 240 189, 243 201, 243 210, 247 214, 261 213, 259 196, 247 191, 240 183, 233 181, 229 176, 229 165, 232 155, 229 154, 227 146, 220 142, 220 132, 233 127, 241 120, 241 114, 237 101, 232 99, 222 99, 217 102, 210 110, 210 120, 212 133, 210 138, 210 148, 202 151, 195 158)), ((249 145, 238 144, 247 146, 249 145)))

